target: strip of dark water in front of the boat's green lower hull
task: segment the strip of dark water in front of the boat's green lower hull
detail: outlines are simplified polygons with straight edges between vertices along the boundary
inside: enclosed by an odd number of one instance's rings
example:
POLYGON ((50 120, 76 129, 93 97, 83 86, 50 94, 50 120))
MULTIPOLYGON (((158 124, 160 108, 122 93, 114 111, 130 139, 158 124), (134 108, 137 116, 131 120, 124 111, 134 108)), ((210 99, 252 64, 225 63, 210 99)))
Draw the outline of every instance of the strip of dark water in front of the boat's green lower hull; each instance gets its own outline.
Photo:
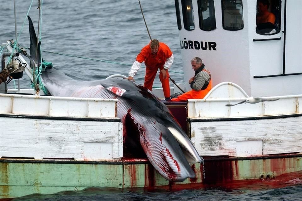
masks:
POLYGON ((169 191, 121 191, 104 190, 101 188, 87 188, 83 191, 65 191, 56 194, 34 194, 22 198, 15 198, 13 201, 301 201, 302 186, 291 186, 268 190, 234 190, 223 191, 220 189, 195 189, 176 192, 169 191))

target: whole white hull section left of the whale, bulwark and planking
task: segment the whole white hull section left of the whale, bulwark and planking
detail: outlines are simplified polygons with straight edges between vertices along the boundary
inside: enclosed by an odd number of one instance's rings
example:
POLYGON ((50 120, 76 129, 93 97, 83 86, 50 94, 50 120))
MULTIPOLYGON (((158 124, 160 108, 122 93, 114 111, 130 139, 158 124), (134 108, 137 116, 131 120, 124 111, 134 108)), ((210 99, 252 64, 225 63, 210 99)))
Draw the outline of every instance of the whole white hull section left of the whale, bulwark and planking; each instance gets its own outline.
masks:
POLYGON ((0 158, 114 160, 123 156, 116 99, 0 94, 0 158))

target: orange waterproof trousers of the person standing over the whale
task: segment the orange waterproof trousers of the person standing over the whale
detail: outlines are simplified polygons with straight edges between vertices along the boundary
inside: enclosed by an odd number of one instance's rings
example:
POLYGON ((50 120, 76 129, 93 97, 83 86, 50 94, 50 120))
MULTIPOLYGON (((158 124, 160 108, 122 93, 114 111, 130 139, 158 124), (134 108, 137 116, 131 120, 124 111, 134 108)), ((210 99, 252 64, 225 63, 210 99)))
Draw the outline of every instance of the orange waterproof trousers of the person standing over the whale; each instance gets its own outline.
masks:
MULTIPOLYGON (((158 68, 148 68, 146 67, 146 75, 144 86, 147 87, 150 91, 152 91, 153 82, 156 76, 158 68)), ((170 98, 170 82, 169 82, 169 72, 167 72, 167 78, 164 79, 163 75, 159 73, 159 80, 161 82, 161 86, 163 87, 165 98, 170 98)))

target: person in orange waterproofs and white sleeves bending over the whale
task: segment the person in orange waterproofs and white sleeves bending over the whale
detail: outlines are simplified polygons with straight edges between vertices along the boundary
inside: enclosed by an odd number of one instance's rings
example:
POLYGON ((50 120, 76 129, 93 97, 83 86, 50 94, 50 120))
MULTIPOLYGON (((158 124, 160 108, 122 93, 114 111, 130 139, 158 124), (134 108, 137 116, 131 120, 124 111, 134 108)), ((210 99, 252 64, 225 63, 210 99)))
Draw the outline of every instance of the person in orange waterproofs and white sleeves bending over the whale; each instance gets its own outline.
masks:
POLYGON ((144 46, 137 55, 129 72, 129 80, 133 80, 134 75, 141 68, 141 63, 145 62, 146 74, 144 86, 152 90, 153 82, 159 69, 159 80, 163 87, 165 100, 170 100, 170 82, 168 70, 173 63, 173 53, 163 42, 153 39, 148 45, 144 46))

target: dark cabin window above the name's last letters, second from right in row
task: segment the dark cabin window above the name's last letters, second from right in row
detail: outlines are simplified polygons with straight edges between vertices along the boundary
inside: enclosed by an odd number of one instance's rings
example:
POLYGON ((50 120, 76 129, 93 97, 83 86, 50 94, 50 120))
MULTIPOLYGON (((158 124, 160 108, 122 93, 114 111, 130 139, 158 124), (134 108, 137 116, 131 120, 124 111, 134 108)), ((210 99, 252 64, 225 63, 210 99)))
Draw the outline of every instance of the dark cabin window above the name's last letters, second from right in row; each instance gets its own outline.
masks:
POLYGON ((198 0, 199 28, 204 31, 216 29, 214 0, 198 0))

